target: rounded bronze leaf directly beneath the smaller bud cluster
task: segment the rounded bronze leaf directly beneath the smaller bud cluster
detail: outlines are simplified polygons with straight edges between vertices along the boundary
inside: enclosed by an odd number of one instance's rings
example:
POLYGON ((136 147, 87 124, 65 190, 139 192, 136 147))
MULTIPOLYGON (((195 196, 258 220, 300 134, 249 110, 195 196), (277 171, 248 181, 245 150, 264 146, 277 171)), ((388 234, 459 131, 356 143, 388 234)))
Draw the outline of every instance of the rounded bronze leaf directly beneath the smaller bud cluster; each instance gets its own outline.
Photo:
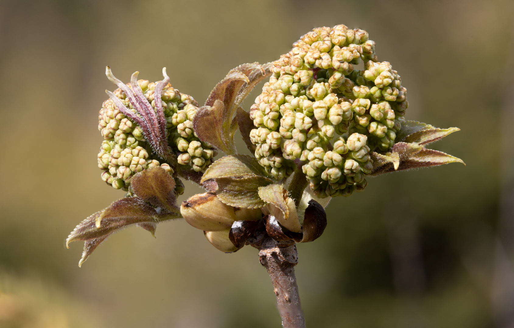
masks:
POLYGON ((137 173, 131 181, 135 194, 155 207, 179 213, 173 189, 175 180, 162 167, 152 167, 137 173))

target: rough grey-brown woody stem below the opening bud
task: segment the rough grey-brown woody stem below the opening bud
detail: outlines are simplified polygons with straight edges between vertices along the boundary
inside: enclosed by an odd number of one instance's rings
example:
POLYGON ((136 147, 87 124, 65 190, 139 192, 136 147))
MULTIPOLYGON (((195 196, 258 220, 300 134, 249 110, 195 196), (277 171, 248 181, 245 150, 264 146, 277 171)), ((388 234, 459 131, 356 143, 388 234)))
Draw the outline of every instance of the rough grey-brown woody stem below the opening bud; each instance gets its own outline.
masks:
POLYGON ((296 283, 298 252, 294 241, 277 242, 266 233, 251 245, 259 249, 259 262, 268 271, 284 328, 305 328, 305 318, 296 283))

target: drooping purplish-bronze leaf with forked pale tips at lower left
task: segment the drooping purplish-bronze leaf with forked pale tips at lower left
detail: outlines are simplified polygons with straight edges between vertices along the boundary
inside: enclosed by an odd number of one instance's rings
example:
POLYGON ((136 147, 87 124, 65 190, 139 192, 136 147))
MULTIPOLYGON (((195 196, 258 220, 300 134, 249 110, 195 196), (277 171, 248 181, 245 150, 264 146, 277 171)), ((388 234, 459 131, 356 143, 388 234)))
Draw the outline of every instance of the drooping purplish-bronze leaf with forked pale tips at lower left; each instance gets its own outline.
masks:
MULTIPOLYGON (((93 253, 95 248, 116 230, 132 224, 159 222, 177 219, 180 215, 158 212, 139 197, 122 198, 79 223, 66 239, 66 247, 72 241, 84 240, 84 251, 79 266, 93 253), (97 222, 100 224, 97 225, 97 222)), ((149 230, 149 225, 143 228, 149 230)), ((154 229, 155 231, 155 229, 154 229)))

